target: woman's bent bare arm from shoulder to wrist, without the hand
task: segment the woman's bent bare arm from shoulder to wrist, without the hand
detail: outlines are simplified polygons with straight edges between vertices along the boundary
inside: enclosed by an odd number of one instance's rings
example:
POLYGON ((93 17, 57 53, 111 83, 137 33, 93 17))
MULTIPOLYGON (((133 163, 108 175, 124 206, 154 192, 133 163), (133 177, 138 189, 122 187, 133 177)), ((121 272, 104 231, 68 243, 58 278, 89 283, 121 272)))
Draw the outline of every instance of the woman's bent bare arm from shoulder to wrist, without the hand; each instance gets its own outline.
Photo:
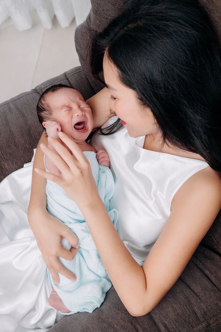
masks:
POLYGON ((174 198, 167 224, 142 267, 124 246, 101 200, 95 197, 82 207, 107 274, 134 316, 151 311, 175 284, 220 210, 218 175, 197 176, 174 198))

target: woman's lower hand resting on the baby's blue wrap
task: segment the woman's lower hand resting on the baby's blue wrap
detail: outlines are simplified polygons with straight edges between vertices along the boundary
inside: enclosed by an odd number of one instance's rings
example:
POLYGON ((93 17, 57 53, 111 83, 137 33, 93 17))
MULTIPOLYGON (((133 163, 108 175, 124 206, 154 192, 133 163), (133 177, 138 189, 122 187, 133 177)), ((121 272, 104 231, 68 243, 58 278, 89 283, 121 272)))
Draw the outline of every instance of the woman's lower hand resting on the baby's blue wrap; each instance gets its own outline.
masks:
POLYGON ((32 216, 29 216, 29 222, 36 238, 38 248, 42 253, 43 260, 50 271, 54 283, 56 285, 59 284, 58 273, 75 281, 75 275, 62 265, 58 256, 69 261, 74 259, 79 249, 77 236, 69 227, 47 213, 47 211, 42 212, 39 210, 36 211, 35 214, 36 215, 32 214, 32 216), (39 221, 36 222, 36 220, 39 221), (73 248, 71 248, 71 250, 66 250, 61 244, 63 237, 72 245, 73 248))

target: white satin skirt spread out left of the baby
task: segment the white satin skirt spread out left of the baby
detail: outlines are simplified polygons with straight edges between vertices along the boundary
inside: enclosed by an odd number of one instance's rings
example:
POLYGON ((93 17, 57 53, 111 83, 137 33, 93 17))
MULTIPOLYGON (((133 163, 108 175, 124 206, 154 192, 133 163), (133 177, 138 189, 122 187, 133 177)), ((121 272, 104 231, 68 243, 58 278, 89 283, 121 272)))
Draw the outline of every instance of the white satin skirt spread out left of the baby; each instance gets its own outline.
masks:
POLYGON ((44 332, 56 320, 46 266, 28 224, 31 173, 32 162, 0 184, 1 332, 44 332))

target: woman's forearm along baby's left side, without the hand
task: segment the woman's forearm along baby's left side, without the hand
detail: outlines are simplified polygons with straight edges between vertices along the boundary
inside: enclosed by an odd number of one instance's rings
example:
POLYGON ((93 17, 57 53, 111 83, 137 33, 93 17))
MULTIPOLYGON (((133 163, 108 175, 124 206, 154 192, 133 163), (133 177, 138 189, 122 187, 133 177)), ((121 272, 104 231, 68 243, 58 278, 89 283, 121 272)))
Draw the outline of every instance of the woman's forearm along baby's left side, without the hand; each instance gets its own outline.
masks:
POLYGON ((39 140, 35 156, 33 162, 33 171, 32 171, 32 181, 31 181, 31 195, 28 207, 28 221, 31 220, 31 215, 38 209, 45 209, 46 210, 46 193, 45 193, 45 186, 46 180, 39 176, 36 172, 34 172, 35 167, 43 168, 44 169, 44 153, 40 149, 40 144, 44 143, 47 144, 47 137, 45 132, 41 135, 39 140))

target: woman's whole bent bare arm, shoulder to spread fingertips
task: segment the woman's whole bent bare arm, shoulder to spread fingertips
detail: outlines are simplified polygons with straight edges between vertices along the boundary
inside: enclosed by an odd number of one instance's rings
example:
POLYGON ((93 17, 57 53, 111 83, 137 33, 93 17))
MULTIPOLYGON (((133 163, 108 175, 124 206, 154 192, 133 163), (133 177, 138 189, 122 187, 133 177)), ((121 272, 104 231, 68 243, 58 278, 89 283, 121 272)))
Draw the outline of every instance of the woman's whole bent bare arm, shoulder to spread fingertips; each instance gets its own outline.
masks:
POLYGON ((42 149, 57 163, 61 177, 38 172, 61 185, 76 201, 122 302, 132 315, 144 315, 174 285, 210 228, 221 207, 221 179, 206 168, 186 181, 174 196, 166 226, 140 267, 115 230, 82 151, 67 135, 60 135, 60 138, 72 150, 76 161, 67 149, 53 140, 53 146, 63 159, 55 161, 52 151, 46 146, 42 149))

